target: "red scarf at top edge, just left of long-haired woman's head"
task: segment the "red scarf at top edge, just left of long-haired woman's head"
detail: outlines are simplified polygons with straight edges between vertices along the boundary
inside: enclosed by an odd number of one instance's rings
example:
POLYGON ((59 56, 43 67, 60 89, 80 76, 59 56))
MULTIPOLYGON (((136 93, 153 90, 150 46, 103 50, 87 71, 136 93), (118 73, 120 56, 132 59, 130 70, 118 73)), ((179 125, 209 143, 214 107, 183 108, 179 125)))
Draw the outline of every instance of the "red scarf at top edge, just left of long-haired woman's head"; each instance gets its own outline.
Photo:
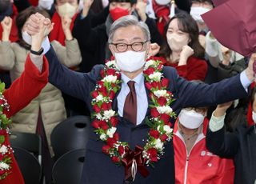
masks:
POLYGON ((155 0, 152 0, 153 10, 155 15, 158 18, 157 26, 160 34, 164 34, 166 23, 170 20, 169 14, 170 14, 170 6, 161 6, 158 5, 155 0))

